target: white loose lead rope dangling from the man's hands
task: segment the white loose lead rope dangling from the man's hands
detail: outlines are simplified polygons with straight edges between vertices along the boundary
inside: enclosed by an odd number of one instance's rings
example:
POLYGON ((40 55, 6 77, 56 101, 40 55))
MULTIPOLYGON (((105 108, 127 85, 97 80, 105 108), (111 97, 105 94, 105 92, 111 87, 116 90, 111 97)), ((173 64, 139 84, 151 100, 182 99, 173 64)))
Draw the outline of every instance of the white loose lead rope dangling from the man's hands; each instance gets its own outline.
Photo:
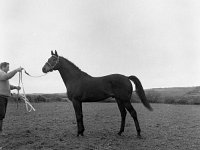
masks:
MULTIPOLYGON (((18 86, 20 86, 20 84, 21 84, 21 87, 22 87, 22 90, 23 90, 21 97, 25 102, 26 110, 28 112, 31 112, 32 110, 35 111, 35 108, 31 105, 31 103, 29 102, 29 100, 26 97, 26 93, 25 93, 25 90, 24 90, 24 84, 22 82, 22 71, 19 72, 19 85, 18 86)), ((19 90, 18 90, 18 98, 19 98, 19 90)), ((17 107, 18 107, 18 103, 17 103, 17 107)))

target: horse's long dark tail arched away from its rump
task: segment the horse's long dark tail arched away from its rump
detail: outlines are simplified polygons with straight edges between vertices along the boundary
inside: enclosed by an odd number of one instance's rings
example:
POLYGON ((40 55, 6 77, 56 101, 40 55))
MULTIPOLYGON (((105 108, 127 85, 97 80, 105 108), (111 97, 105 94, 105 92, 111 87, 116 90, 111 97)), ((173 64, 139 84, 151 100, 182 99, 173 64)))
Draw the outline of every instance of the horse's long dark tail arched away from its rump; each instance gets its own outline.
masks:
POLYGON ((151 107, 151 105, 149 104, 146 96, 145 96, 145 93, 144 93, 144 89, 142 87, 142 84, 140 82, 140 80, 136 77, 136 76, 129 76, 128 77, 131 81, 134 82, 135 84, 135 88, 136 88, 136 93, 137 95, 139 96, 139 98, 141 99, 143 105, 149 109, 150 111, 153 111, 153 108, 151 107))

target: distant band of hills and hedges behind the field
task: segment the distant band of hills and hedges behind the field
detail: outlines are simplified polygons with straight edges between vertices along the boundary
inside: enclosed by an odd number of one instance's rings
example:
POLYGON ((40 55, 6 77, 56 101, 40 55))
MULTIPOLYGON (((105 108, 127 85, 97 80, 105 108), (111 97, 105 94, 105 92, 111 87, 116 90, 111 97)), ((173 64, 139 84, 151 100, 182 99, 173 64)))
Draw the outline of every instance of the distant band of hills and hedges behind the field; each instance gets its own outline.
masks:
MULTIPOLYGON (((145 94, 151 103, 200 104, 200 86, 145 89, 145 94)), ((16 101, 16 98, 17 95, 14 94, 12 99, 16 101)), ((66 93, 33 93, 27 94, 27 98, 31 102, 69 101, 66 93)), ((135 91, 131 101, 141 102, 135 91)), ((115 102, 115 100, 108 98, 102 102, 115 102)))

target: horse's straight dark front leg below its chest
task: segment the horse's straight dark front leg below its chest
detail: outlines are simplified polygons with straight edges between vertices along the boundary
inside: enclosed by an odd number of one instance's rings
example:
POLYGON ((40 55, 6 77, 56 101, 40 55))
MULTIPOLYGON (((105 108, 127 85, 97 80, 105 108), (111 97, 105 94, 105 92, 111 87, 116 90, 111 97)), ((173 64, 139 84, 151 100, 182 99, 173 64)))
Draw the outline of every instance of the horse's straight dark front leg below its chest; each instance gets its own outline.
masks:
POLYGON ((76 114, 76 121, 77 121, 77 136, 81 135, 83 136, 83 132, 85 130, 84 125, 83 125, 83 112, 82 112, 82 102, 78 100, 73 100, 72 101, 75 114, 76 114))

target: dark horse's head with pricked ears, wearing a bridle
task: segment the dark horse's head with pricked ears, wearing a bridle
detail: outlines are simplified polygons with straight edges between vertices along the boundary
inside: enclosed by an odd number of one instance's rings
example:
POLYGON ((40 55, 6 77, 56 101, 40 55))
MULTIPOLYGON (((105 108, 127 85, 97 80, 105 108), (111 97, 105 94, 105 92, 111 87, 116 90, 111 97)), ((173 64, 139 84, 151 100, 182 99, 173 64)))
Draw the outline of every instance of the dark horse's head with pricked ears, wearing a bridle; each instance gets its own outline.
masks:
POLYGON ((59 56, 57 54, 57 51, 55 50, 55 53, 53 53, 53 51, 51 51, 51 57, 48 59, 48 61, 42 67, 42 71, 44 73, 47 73, 47 72, 51 72, 53 70, 58 70, 59 67, 60 67, 60 64, 59 64, 59 56))

